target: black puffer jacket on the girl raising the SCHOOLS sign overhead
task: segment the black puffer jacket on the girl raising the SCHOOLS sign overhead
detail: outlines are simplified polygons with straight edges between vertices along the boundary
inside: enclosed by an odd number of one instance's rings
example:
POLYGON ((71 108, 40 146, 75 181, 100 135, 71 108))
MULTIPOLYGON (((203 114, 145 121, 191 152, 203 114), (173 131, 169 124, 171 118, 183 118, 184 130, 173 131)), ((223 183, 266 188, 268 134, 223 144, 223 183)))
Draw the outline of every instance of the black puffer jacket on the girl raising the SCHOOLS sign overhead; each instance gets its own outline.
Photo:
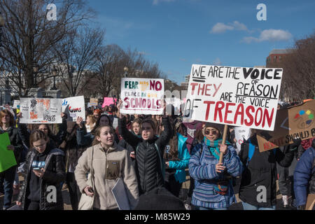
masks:
POLYGON ((165 146, 172 136, 172 127, 169 118, 162 118, 162 124, 165 130, 160 137, 154 137, 148 141, 129 132, 125 125, 125 118, 118 119, 119 134, 127 141, 130 146, 137 148, 136 153, 136 173, 139 184, 139 195, 147 193, 154 188, 160 188, 165 185, 164 171, 165 162, 163 154, 165 146))

